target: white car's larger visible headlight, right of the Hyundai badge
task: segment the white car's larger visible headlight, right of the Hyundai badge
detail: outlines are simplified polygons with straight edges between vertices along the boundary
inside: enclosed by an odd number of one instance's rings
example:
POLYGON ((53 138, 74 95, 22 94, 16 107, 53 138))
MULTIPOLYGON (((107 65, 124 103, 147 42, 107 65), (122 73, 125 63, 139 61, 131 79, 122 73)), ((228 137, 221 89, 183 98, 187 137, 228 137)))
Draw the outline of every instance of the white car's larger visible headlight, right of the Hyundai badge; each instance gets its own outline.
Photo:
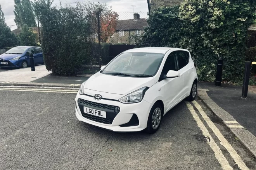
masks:
POLYGON ((121 103, 138 103, 138 102, 141 102, 141 100, 143 99, 147 89, 149 89, 149 87, 140 88, 140 89, 136 90, 135 92, 132 92, 132 93, 122 97, 121 99, 119 99, 119 102, 121 102, 121 103))

